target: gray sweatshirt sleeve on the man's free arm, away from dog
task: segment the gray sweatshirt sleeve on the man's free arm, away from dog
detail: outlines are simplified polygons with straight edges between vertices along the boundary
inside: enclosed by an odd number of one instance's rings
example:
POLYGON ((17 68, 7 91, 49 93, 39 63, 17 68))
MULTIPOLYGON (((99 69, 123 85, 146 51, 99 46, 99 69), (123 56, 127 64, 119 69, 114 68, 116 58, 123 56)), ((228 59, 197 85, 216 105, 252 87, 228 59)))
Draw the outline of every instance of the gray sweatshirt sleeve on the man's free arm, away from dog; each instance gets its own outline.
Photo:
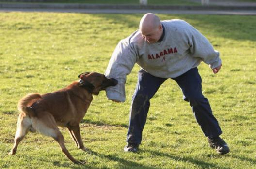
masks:
POLYGON ((208 64, 211 69, 221 65, 219 51, 213 49, 213 46, 198 30, 191 28, 189 32, 190 53, 193 57, 199 57, 208 64))

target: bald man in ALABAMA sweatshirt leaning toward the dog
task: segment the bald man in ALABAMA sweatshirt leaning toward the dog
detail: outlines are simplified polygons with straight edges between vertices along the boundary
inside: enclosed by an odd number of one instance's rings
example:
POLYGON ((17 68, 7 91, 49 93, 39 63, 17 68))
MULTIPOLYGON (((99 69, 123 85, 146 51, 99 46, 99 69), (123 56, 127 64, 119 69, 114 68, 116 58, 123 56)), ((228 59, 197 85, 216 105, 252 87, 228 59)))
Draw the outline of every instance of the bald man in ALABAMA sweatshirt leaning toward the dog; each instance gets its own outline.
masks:
POLYGON ((118 43, 105 72, 107 77, 118 80, 117 86, 106 90, 108 99, 124 102, 126 76, 135 63, 142 68, 132 96, 125 152, 138 151, 149 100, 168 78, 181 88, 210 147, 222 155, 229 152, 228 145, 219 137, 222 131, 208 99, 202 94, 202 80, 197 69, 201 61, 210 65, 213 73, 218 73, 222 66, 219 52, 198 30, 183 20, 160 21, 152 13, 142 17, 139 30, 118 43))

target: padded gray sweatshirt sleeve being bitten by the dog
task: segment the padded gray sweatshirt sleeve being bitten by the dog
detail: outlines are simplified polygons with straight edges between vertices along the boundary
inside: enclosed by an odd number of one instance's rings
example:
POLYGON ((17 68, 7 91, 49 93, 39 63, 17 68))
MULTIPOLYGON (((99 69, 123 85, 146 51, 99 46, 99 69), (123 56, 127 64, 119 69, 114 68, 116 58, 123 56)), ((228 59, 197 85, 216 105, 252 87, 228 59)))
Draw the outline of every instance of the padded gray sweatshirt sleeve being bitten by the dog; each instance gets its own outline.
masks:
POLYGON ((127 41, 125 39, 117 44, 105 71, 106 77, 118 81, 116 86, 106 89, 107 98, 110 100, 125 101, 126 76, 130 74, 137 61, 135 50, 127 41))

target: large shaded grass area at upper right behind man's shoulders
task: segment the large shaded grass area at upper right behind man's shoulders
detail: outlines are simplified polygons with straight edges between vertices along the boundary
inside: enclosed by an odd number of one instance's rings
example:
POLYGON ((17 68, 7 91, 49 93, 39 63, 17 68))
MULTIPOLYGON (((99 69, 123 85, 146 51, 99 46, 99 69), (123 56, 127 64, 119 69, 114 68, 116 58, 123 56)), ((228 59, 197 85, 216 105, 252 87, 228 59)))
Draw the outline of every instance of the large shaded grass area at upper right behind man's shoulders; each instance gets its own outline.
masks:
MULTIPOLYGON (((121 24, 127 28, 138 29, 143 14, 96 14, 110 23, 121 24)), ((254 16, 240 15, 200 15, 200 14, 157 14, 161 20, 183 19, 197 29, 204 30, 215 37, 234 40, 256 41, 254 16), (238 31, 239 30, 239 31, 238 31)), ((114 30, 114 28, 113 28, 114 30)), ((116 30, 115 30, 116 31, 116 30)), ((129 36, 130 34, 128 34, 129 36)), ((126 37, 120 37, 123 39, 126 37)))

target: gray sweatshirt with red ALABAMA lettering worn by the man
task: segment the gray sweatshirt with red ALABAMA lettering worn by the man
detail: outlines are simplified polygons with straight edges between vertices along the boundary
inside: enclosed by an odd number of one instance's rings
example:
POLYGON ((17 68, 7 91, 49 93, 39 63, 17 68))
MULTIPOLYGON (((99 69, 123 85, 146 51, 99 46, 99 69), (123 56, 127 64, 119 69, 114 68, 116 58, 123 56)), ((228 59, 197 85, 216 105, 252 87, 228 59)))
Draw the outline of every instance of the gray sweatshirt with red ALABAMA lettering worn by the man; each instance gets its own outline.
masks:
POLYGON ((183 20, 161 21, 165 28, 162 41, 149 44, 139 30, 121 40, 109 61, 105 75, 118 80, 108 87, 108 99, 125 101, 126 76, 135 63, 156 77, 175 78, 197 67, 201 61, 216 68, 221 65, 219 52, 194 27, 183 20))

